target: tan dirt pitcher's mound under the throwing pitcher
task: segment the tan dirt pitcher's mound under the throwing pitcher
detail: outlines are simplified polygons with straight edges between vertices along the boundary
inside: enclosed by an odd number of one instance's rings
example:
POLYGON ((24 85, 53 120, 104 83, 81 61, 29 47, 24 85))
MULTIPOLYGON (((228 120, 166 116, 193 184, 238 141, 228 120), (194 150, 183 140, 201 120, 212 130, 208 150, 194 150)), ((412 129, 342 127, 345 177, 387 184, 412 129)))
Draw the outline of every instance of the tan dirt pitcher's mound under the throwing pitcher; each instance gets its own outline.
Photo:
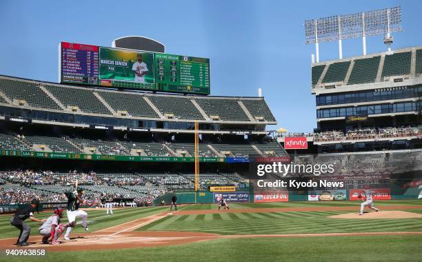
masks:
POLYGON ((359 212, 356 212, 348 214, 336 214, 335 216, 328 217, 332 219, 422 219, 422 214, 406 211, 370 211, 363 215, 359 215, 359 212))

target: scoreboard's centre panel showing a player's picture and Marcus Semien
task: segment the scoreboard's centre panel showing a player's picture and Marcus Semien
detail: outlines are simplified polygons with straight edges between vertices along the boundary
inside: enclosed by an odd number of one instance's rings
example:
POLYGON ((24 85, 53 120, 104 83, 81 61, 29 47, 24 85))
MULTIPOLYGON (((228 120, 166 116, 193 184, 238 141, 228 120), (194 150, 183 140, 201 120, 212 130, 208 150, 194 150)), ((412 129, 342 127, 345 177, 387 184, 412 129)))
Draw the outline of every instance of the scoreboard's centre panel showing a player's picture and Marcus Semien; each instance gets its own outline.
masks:
POLYGON ((99 79, 154 83, 154 54, 117 48, 100 48, 99 79))

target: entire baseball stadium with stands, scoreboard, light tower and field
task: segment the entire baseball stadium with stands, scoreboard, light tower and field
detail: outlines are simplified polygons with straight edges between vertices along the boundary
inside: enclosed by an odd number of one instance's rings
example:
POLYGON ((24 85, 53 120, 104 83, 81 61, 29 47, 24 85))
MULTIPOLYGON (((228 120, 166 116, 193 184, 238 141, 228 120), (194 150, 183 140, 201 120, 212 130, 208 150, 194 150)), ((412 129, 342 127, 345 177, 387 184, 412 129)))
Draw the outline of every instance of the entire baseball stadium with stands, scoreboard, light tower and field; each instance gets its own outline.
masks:
POLYGON ((401 6, 345 13, 301 25, 312 132, 149 37, 65 34, 59 81, 0 71, 0 261, 422 261, 422 46, 392 47, 401 6))

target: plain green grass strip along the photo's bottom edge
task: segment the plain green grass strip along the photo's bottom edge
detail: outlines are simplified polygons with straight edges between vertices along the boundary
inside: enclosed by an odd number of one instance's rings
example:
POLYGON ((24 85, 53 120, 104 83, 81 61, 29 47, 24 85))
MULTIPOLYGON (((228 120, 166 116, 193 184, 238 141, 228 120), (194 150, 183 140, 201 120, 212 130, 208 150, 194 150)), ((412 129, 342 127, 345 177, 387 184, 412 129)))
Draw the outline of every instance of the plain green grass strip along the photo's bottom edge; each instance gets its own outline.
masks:
MULTIPOLYGON (((422 236, 217 239, 95 252, 49 252, 43 261, 422 261, 422 236)), ((3 256, 4 257, 4 256, 3 256)), ((1 258, 1 256, 0 256, 1 258)), ((17 261, 22 258, 7 258, 17 261)), ((25 261, 40 261, 26 257, 25 261)))

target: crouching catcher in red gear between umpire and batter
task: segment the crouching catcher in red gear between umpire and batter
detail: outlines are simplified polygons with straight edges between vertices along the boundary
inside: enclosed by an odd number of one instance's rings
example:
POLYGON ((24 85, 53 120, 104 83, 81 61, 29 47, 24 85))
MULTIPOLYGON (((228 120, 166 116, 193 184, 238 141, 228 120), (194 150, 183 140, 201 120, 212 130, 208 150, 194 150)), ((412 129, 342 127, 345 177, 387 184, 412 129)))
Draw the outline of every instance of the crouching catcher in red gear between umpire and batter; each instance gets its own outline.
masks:
POLYGON ((43 236, 43 244, 57 245, 60 243, 57 239, 68 228, 68 225, 60 225, 60 219, 63 219, 63 209, 55 208, 54 214, 39 227, 39 234, 43 236))

